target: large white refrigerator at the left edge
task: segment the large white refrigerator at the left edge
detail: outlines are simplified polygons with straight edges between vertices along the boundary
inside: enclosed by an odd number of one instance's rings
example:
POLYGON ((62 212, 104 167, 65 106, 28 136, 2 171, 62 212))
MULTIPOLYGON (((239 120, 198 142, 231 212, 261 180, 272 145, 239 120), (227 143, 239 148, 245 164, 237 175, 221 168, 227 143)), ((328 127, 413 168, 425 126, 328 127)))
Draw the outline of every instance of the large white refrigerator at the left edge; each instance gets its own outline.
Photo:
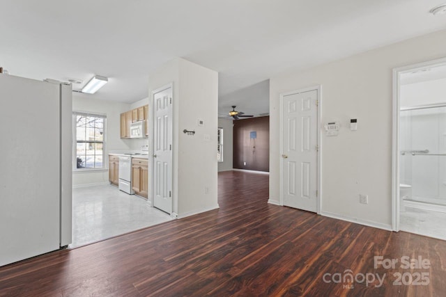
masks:
POLYGON ((0 74, 0 266, 71 243, 72 88, 0 74))

